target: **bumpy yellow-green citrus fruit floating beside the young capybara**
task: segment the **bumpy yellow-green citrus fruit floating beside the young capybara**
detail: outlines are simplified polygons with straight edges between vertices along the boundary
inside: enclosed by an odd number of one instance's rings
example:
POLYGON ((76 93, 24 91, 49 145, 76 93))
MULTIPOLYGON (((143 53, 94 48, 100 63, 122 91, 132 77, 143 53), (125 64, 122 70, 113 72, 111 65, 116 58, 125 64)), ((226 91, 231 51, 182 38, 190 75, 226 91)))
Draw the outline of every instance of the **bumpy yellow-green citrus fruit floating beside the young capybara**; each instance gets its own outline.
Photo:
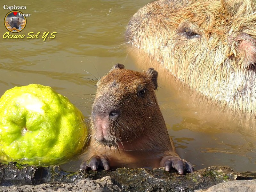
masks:
POLYGON ((2 161, 60 164, 82 152, 86 136, 81 111, 51 87, 14 87, 0 99, 2 161))

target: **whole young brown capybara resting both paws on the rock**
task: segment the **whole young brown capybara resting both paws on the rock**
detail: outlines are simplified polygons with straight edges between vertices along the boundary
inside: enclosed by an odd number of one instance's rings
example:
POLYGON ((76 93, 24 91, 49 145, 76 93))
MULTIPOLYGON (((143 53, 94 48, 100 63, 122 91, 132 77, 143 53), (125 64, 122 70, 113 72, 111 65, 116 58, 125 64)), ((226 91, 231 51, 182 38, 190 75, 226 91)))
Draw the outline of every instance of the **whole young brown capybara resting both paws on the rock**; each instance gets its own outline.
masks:
POLYGON ((89 150, 80 168, 175 168, 194 171, 180 158, 156 100, 157 71, 140 73, 116 64, 97 83, 89 150))

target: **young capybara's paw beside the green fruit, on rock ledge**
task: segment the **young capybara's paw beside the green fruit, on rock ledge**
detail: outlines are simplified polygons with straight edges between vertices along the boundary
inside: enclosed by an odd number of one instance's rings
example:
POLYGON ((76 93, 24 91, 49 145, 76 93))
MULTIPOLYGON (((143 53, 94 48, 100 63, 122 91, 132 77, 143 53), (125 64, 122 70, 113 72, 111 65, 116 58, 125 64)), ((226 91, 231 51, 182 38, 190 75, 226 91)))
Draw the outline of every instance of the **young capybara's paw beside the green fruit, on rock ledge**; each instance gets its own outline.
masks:
POLYGON ((92 156, 86 162, 83 162, 80 165, 80 169, 96 171, 98 168, 104 168, 105 170, 109 170, 108 159, 104 156, 92 156))

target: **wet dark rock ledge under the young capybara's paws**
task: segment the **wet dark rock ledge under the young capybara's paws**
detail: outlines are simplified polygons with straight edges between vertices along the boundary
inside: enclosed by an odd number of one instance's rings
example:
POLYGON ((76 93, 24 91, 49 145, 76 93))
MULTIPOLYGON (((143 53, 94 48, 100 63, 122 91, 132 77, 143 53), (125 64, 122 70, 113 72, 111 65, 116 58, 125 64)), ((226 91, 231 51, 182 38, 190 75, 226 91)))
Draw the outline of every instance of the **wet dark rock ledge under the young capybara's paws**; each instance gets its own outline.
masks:
MULTIPOLYGON (((119 168, 98 172, 66 172, 59 166, 23 166, 0 163, 0 191, 186 191, 252 179, 226 166, 212 166, 191 174, 179 175, 154 170, 119 168)), ((245 182, 246 183, 246 182, 245 182)))

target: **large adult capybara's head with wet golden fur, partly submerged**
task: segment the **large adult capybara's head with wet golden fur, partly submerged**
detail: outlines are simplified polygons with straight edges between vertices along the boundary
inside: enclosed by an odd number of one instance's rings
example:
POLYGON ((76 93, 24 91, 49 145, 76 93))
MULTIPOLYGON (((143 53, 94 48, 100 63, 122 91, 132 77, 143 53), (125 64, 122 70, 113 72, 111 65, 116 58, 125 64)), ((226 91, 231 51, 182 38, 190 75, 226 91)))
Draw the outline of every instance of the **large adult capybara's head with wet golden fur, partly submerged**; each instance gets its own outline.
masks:
POLYGON ((155 1, 134 14, 126 41, 192 90, 256 114, 255 2, 155 1))

